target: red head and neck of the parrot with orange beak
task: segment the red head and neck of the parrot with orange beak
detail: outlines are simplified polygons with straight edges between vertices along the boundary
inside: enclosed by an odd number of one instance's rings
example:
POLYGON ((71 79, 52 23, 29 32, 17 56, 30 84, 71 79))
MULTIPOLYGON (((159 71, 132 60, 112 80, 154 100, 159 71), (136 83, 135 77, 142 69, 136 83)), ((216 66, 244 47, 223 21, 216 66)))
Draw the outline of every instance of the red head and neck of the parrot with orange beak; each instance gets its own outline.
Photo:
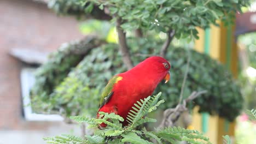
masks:
POLYGON ((145 59, 133 69, 134 71, 141 71, 141 74, 149 79, 157 80, 157 83, 162 80, 165 80, 166 83, 170 80, 170 68, 171 65, 165 58, 153 56, 145 59))

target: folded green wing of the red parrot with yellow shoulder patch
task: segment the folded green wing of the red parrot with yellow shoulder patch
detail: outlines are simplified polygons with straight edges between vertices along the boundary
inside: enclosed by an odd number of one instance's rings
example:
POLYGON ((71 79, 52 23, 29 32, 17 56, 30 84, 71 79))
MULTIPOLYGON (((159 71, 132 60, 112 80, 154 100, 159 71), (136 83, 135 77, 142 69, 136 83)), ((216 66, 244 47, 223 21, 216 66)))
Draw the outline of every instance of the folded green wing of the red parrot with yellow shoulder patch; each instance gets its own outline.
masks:
POLYGON ((100 105, 99 105, 99 109, 101 109, 101 107, 103 105, 105 105, 108 100, 111 98, 111 96, 113 95, 113 86, 118 83, 118 81, 122 80, 123 77, 121 76, 113 76, 112 79, 110 79, 108 81, 107 86, 104 88, 104 91, 101 94, 101 99, 100 99, 100 105))

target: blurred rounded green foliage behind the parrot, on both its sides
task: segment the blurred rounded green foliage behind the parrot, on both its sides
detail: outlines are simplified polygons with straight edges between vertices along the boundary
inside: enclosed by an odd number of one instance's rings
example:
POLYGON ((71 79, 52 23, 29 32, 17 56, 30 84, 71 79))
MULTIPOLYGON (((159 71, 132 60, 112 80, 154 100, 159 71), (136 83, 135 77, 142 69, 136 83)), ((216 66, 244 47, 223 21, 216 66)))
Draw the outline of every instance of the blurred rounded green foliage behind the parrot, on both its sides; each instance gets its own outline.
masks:
MULTIPOLYGON (((139 63, 147 58, 147 53, 158 53, 160 44, 152 39, 129 39, 133 62, 139 63), (146 56, 138 56, 146 55, 146 56)), ((43 103, 53 106, 50 109, 62 110, 69 117, 74 115, 94 116, 100 93, 108 80, 115 74, 126 70, 121 60, 118 45, 106 44, 93 49, 77 67, 54 89, 49 99, 43 103), (86 108, 85 108, 86 107, 86 108)), ((208 93, 194 100, 190 109, 200 106, 200 112, 218 114, 232 121, 242 109, 240 88, 232 79, 231 73, 223 65, 209 56, 194 50, 172 48, 166 53, 166 59, 171 63, 171 80, 165 85, 160 84, 156 91, 162 91, 165 103, 161 109, 173 107, 178 103, 182 79, 185 73, 187 57, 191 57, 188 79, 184 88, 184 98, 193 91, 207 90, 208 93), (202 61, 203 59, 203 61, 202 61), (207 101, 207 102, 206 102, 207 101), (208 103, 211 101, 211 103, 208 103)), ((37 97, 37 99, 41 99, 37 97)))

